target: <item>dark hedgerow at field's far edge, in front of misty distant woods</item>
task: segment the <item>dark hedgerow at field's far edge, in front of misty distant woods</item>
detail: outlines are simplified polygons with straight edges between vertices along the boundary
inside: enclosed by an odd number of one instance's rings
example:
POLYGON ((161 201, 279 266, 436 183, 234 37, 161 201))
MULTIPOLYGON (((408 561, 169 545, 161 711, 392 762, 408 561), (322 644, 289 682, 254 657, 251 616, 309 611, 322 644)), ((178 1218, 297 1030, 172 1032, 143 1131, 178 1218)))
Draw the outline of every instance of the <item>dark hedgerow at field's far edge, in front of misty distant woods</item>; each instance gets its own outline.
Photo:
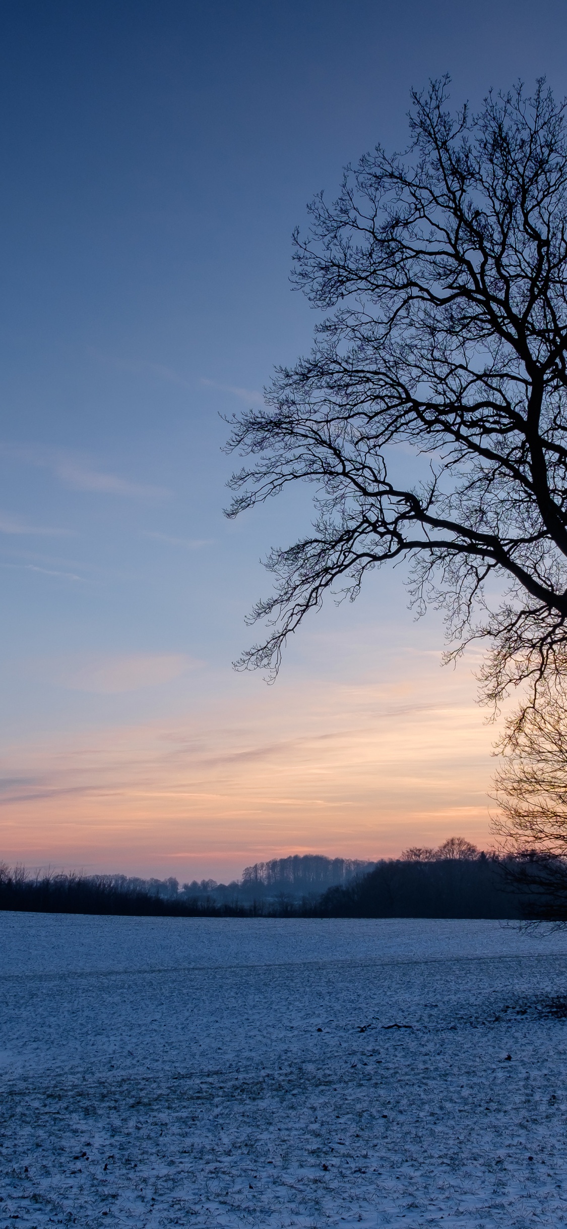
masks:
MULTIPOLYGON (((0 911, 37 913, 117 914, 129 917, 360 917, 360 918, 509 918, 551 917, 542 891, 541 868, 495 854, 465 850, 465 857, 439 857, 441 850, 409 850, 401 859, 378 862, 373 870, 346 886, 319 896, 215 895, 163 896, 130 889, 115 876, 47 875, 31 878, 20 868, 0 865, 0 911)), ((567 876, 563 875, 567 885, 567 876)), ((158 881, 156 881, 158 882, 158 881)), ((222 885, 220 885, 222 886, 222 885)), ((234 889, 242 885, 234 885, 234 889)), ((545 886, 545 885, 544 885, 545 886)), ((552 919, 567 919, 567 886, 555 892, 552 919)))

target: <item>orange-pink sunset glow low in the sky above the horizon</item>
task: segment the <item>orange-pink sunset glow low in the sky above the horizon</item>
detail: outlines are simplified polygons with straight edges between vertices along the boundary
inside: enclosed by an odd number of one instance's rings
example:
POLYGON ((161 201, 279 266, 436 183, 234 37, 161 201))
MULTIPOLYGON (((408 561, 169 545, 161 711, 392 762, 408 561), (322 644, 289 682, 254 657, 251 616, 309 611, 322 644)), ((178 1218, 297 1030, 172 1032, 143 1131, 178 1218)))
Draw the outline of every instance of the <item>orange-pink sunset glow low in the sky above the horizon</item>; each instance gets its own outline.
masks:
POLYGON ((374 859, 450 834, 488 846, 493 730, 470 670, 407 650, 389 673, 238 678, 199 715, 12 746, 1 857, 184 881, 290 853, 374 859))

